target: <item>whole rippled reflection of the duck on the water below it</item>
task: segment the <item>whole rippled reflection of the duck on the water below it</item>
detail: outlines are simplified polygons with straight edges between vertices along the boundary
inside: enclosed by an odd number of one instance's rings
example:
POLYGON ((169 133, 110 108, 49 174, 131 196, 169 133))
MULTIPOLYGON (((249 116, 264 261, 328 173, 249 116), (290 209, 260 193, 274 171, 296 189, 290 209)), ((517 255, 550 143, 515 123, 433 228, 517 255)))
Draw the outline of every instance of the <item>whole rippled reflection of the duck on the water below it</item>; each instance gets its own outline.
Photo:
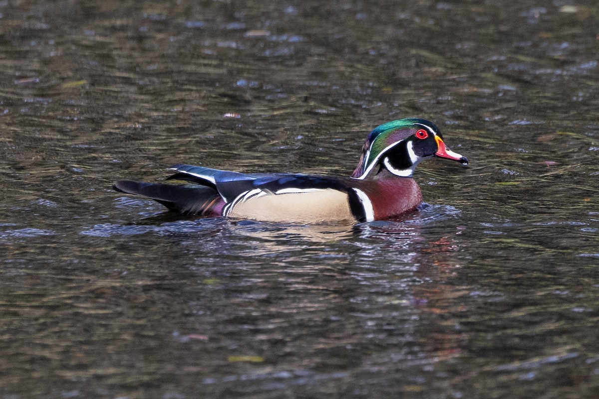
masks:
POLYGON ((454 215, 431 207, 355 226, 144 223, 194 259, 181 267, 207 285, 189 304, 194 321, 206 326, 199 333, 226 333, 239 348, 258 339, 284 370, 310 359, 309 368, 391 371, 383 378, 397 378, 412 373, 415 362, 432 370, 465 345, 459 319, 472 290, 459 281, 465 241, 454 215))

